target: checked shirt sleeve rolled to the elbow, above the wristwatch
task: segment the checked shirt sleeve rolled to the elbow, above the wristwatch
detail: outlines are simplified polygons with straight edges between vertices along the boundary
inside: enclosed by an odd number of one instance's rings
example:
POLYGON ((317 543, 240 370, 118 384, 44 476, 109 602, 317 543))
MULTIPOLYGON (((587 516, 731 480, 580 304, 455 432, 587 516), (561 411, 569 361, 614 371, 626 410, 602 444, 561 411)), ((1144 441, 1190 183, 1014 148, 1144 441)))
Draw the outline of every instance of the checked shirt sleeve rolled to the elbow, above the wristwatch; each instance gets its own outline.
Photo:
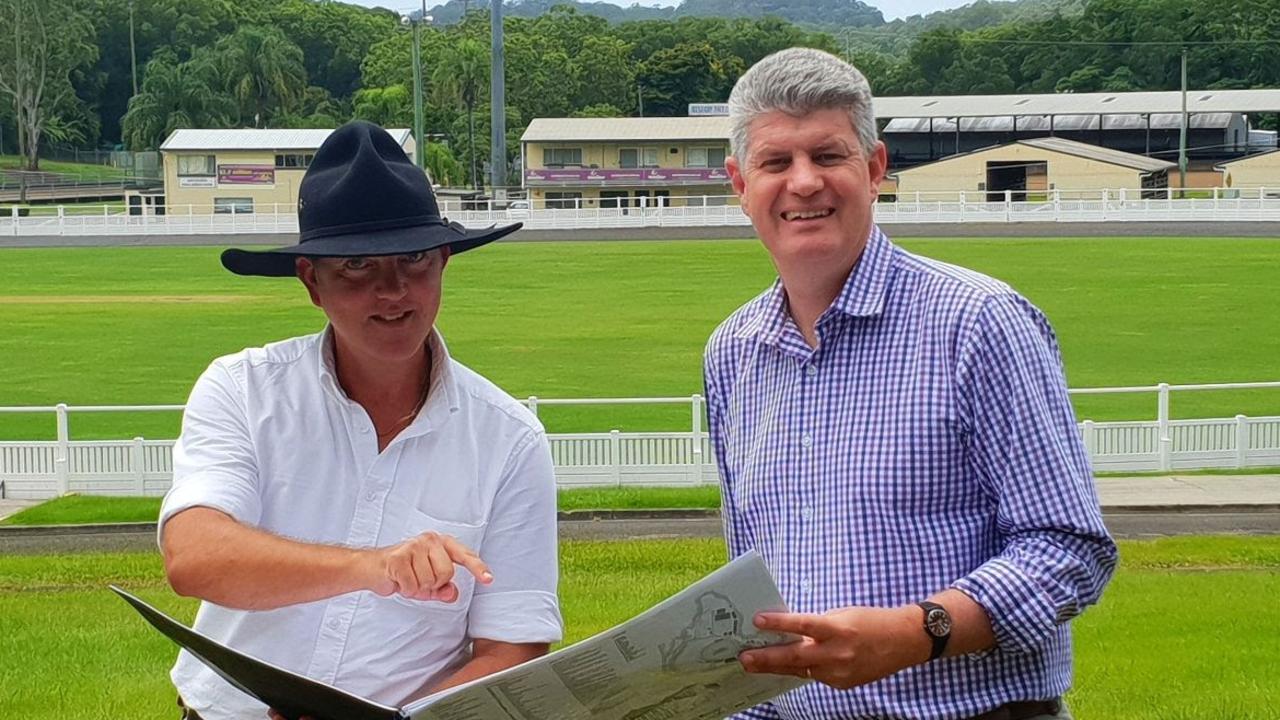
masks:
POLYGON ((1116 546, 1044 315, 1014 293, 988 297, 956 368, 969 462, 997 500, 1004 547, 954 587, 987 611, 1001 650, 1030 652, 1098 601, 1116 546))

